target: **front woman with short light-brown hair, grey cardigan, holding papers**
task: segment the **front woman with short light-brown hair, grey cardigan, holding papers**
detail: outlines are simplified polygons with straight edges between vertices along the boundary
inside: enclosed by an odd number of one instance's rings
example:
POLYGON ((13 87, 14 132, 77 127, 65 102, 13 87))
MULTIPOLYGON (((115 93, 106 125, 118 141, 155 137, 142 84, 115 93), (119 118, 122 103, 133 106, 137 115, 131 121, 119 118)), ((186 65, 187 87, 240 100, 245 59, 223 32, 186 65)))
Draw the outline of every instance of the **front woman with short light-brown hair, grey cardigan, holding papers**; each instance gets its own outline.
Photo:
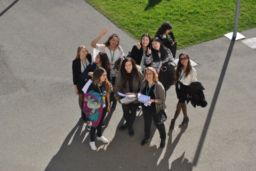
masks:
MULTIPOLYGON (((158 122, 156 113, 158 113, 161 109, 166 108, 164 87, 158 81, 156 70, 153 67, 147 67, 144 71, 144 75, 145 80, 143 80, 141 83, 140 93, 142 95, 150 96, 150 100, 148 100, 148 102, 151 104, 147 105, 148 103, 141 103, 145 129, 145 139, 143 139, 141 142, 142 146, 146 145, 149 141, 152 119, 156 125, 158 122)), ((156 127, 161 138, 160 147, 164 148, 166 139, 164 123, 157 124, 156 127)))

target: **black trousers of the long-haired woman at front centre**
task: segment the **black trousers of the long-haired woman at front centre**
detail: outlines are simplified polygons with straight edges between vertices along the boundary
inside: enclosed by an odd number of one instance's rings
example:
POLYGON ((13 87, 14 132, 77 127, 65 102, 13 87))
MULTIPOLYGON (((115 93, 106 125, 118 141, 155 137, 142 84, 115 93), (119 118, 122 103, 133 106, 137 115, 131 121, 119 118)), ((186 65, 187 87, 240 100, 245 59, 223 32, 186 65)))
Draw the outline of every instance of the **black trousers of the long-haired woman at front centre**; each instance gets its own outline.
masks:
POLYGON ((129 128, 132 128, 132 125, 136 118, 137 107, 138 107, 138 104, 134 104, 134 103, 129 103, 126 105, 122 104, 124 119, 126 121, 126 124, 129 125, 129 128))

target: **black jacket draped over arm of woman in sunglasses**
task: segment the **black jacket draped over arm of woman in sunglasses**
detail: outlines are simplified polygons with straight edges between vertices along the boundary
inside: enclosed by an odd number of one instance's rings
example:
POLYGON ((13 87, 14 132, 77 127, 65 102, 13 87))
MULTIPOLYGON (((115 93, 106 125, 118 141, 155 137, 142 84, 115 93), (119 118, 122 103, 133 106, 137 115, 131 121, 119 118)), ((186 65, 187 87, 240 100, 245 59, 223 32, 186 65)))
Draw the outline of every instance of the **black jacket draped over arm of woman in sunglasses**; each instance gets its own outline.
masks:
POLYGON ((189 94, 187 104, 190 101, 194 108, 196 108, 196 105, 199 105, 202 108, 206 107, 207 102, 205 100, 203 90, 204 87, 200 82, 191 83, 187 88, 187 92, 189 94))

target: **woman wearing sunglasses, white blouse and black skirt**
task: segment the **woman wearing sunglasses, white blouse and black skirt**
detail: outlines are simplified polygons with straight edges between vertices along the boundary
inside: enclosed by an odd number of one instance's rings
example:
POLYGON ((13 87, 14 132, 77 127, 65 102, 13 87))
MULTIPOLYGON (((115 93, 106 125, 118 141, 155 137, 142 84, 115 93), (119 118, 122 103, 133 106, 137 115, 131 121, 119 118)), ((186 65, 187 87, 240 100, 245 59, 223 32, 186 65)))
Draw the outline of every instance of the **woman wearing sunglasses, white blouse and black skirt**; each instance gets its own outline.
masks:
POLYGON ((179 102, 177 104, 177 109, 175 111, 174 118, 171 121, 170 129, 174 129, 175 120, 180 115, 180 110, 182 109, 184 118, 180 126, 188 124, 187 107, 186 100, 188 98, 188 93, 186 88, 192 83, 196 82, 196 70, 191 66, 189 56, 187 53, 181 53, 179 55, 179 61, 174 75, 174 84, 179 102))

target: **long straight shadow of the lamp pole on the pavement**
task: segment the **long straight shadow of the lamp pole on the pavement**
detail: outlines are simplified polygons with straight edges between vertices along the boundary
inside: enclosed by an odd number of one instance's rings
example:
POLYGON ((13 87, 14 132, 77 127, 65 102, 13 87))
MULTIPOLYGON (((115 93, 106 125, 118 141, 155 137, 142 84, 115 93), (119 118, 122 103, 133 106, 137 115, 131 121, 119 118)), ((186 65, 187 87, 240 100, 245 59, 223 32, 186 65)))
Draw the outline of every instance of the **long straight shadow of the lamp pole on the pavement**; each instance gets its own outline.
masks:
POLYGON ((212 103, 211 103, 207 118, 205 120, 203 132, 202 132, 201 138, 200 138, 198 146, 197 146, 197 150, 196 150, 195 157, 194 157, 194 160, 193 160, 193 166, 197 165, 198 158, 201 154, 201 151, 202 151, 202 148, 203 148, 203 145, 204 145, 204 141, 205 141, 205 137, 206 137, 207 131, 208 131, 210 123, 211 123, 214 108, 215 108, 215 105, 217 103, 218 96, 220 94, 221 85, 223 83, 223 79, 225 77, 225 74, 226 74, 226 71, 227 71, 227 68, 228 68, 228 62, 230 60, 230 56, 231 56, 231 53, 233 51, 234 44, 235 44, 235 41, 230 42, 228 52, 227 52, 227 55, 226 55, 226 59, 223 63, 223 68, 220 72, 220 78, 219 78, 217 87, 215 89, 214 95, 213 95, 212 103))

